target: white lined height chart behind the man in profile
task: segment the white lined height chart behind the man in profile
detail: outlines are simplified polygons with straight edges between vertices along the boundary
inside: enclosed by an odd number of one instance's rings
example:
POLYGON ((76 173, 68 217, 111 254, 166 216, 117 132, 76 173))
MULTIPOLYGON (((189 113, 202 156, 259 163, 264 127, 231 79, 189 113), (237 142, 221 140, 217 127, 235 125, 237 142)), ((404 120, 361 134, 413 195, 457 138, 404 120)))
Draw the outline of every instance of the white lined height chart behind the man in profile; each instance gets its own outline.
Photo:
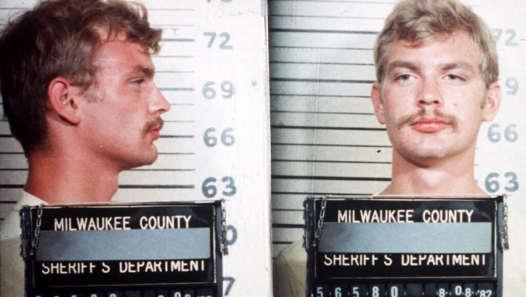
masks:
MULTIPOLYGON (((2 1, 1 27, 36 1, 2 1)), ((124 171, 112 201, 225 199, 223 294, 271 295, 270 136, 265 1, 143 1, 163 29, 152 57, 171 108, 151 166, 124 171)), ((19 197, 27 163, 0 122, 0 217, 19 197)))

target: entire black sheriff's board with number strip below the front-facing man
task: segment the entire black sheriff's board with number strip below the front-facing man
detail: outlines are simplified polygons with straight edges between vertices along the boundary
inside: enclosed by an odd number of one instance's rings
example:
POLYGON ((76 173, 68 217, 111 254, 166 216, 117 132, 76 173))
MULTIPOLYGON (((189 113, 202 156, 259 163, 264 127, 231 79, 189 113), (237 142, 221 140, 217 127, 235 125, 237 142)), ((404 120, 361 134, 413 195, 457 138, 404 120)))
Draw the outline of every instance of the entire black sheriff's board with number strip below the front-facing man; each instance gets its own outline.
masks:
POLYGON ((503 197, 309 197, 306 296, 502 296, 503 197))

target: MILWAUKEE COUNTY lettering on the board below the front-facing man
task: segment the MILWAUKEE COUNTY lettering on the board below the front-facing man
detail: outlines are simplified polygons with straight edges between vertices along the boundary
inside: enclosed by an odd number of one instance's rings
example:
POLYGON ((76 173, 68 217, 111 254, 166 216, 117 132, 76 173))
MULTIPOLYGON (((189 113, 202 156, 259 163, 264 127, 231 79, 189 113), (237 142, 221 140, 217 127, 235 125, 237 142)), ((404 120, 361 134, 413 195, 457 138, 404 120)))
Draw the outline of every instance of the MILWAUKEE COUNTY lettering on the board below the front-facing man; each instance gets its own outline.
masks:
MULTIPOLYGON (((412 209, 348 209, 338 210, 338 223, 413 223, 412 209)), ((472 209, 426 209, 424 223, 471 222, 472 209)))

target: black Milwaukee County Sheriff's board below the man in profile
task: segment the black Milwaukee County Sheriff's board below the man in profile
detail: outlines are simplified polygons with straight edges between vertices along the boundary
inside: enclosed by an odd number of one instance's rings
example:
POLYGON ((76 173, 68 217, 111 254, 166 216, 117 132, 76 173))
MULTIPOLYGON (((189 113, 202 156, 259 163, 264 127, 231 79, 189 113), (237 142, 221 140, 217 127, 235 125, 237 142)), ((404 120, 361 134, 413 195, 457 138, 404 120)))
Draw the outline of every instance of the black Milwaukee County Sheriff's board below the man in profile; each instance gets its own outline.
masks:
MULTIPOLYGON (((21 213, 27 250, 38 208, 21 213)), ((26 290, 184 284, 221 294, 220 215, 219 201, 46 206, 26 290)))

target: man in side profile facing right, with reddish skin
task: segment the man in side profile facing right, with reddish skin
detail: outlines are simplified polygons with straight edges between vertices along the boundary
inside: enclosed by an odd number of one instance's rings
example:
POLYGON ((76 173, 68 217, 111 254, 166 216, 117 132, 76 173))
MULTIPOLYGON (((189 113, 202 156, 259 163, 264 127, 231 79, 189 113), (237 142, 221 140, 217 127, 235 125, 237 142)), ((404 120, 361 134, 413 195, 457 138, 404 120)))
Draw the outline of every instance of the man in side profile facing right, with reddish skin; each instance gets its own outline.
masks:
POLYGON ((153 81, 160 38, 143 5, 116 0, 42 1, 3 30, 4 114, 28 177, 2 223, 2 296, 24 295, 22 205, 109 201, 120 171, 156 160, 170 108, 153 81))

